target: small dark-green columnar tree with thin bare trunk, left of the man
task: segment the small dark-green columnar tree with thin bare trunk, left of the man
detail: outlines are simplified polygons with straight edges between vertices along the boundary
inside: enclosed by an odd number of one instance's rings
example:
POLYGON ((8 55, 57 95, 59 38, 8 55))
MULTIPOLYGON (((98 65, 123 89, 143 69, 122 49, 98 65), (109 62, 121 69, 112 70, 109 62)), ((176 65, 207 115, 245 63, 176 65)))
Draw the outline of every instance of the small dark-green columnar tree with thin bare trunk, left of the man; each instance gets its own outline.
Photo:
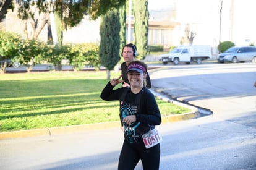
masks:
POLYGON ((109 11, 101 19, 99 56, 101 65, 108 70, 107 79, 110 79, 110 70, 114 69, 114 66, 116 66, 120 59, 120 27, 119 12, 117 9, 109 11))

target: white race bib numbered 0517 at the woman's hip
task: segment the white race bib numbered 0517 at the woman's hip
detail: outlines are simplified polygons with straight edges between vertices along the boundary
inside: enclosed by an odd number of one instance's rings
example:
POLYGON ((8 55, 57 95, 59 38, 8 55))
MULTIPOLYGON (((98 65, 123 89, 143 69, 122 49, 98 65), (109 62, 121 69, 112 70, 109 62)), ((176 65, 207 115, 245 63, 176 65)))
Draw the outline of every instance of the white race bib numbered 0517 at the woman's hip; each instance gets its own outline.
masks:
POLYGON ((146 134, 143 134, 142 138, 146 148, 151 148, 163 141, 163 138, 156 129, 150 130, 146 134))

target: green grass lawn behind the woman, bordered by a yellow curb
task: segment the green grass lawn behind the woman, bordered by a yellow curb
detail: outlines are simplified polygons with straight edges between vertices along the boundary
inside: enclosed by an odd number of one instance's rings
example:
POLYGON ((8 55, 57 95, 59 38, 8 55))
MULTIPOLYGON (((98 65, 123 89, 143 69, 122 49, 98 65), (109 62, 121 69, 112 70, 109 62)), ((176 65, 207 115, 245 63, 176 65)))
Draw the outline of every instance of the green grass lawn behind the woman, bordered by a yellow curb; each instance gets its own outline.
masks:
MULTIPOLYGON (((100 98, 107 82, 105 71, 0 74, 0 132, 119 121, 119 102, 100 98)), ((189 111, 156 101, 162 116, 189 111)))

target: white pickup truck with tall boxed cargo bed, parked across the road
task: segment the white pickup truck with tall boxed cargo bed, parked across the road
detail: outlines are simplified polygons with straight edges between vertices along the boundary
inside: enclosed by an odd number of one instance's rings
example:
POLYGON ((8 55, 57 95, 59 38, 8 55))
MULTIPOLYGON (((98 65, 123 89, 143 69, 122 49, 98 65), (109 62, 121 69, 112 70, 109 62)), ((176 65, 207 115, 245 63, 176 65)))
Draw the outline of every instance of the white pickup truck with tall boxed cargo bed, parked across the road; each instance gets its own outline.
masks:
POLYGON ((168 54, 161 54, 160 61, 163 64, 173 62, 174 65, 179 62, 196 62, 201 64, 203 60, 211 58, 211 46, 210 45, 190 45, 190 46, 177 46, 168 54))

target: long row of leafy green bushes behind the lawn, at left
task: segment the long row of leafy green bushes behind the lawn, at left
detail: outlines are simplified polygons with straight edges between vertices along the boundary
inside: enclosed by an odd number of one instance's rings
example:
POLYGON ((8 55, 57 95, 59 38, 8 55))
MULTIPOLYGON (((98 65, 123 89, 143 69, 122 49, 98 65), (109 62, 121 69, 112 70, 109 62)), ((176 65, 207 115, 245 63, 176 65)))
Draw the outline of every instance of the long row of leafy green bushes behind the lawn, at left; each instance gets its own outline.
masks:
MULTIPOLYGON (((12 59, 32 70, 35 64, 46 61, 61 70, 62 59, 68 59, 74 70, 90 65, 100 69, 99 46, 96 43, 76 45, 47 45, 38 40, 23 40, 19 35, 0 31, 0 55, 2 60, 12 59)), ((6 72, 7 63, 1 64, 1 72, 6 72)))

